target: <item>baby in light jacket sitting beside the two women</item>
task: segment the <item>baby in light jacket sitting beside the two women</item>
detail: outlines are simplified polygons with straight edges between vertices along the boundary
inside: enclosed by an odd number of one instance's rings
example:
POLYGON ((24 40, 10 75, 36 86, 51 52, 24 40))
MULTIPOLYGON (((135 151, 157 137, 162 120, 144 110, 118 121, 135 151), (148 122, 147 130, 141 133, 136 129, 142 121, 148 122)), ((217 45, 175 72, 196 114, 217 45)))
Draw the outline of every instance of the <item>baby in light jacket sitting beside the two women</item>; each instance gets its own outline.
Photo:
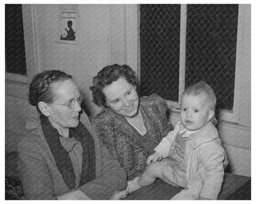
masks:
POLYGON ((174 200, 217 199, 228 161, 214 126, 215 105, 215 93, 206 83, 187 88, 178 123, 148 157, 143 175, 129 181, 127 193, 160 178, 185 188, 174 200))

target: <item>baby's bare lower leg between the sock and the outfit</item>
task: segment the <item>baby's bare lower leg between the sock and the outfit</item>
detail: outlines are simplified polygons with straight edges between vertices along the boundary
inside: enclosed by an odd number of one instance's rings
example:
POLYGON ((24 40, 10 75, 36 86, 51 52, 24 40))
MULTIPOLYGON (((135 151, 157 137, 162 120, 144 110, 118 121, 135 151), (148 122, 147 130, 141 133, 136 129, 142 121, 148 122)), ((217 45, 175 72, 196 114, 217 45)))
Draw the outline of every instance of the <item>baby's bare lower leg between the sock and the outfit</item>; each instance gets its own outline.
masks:
POLYGON ((148 186, 156 181, 156 178, 162 178, 160 162, 152 162, 146 167, 145 172, 137 180, 140 186, 148 186))

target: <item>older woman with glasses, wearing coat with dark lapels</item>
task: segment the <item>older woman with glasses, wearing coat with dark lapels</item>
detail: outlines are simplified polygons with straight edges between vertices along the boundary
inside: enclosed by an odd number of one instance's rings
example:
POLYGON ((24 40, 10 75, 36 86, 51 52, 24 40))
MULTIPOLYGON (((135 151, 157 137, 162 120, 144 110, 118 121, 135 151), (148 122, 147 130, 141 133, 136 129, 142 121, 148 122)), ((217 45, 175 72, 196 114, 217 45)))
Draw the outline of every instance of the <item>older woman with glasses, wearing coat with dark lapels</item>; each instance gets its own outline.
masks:
POLYGON ((126 172, 81 110, 82 95, 71 75, 60 70, 37 74, 30 85, 29 102, 40 116, 26 123, 28 133, 18 145, 26 199, 125 196, 126 172))

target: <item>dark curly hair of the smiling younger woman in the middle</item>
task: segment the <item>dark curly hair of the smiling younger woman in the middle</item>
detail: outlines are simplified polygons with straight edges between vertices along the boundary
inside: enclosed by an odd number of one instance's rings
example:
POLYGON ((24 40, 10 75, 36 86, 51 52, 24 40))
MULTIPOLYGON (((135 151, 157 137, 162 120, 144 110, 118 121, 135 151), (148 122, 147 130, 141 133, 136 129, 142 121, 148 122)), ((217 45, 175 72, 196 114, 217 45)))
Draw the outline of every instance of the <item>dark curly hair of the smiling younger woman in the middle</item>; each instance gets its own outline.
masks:
POLYGON ((100 70, 100 72, 98 72, 96 77, 93 78, 93 86, 90 86, 90 91, 92 91, 93 97, 92 101, 95 105, 97 105, 98 107, 100 107, 101 105, 103 105, 103 107, 107 107, 106 97, 103 93, 103 88, 110 85, 119 78, 124 78, 128 83, 132 84, 133 86, 138 85, 138 80, 135 77, 135 72, 126 64, 122 66, 119 64, 106 66, 102 70, 100 70))

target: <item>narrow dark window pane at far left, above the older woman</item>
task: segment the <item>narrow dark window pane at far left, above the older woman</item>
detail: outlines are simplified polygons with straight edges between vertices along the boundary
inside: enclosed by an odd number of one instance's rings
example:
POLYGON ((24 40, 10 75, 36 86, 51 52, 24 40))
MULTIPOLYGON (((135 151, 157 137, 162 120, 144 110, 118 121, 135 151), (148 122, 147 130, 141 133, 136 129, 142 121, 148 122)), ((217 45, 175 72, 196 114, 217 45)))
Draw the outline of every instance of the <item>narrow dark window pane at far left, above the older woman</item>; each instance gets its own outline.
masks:
POLYGON ((6 4, 6 71, 26 75, 21 4, 6 4))

